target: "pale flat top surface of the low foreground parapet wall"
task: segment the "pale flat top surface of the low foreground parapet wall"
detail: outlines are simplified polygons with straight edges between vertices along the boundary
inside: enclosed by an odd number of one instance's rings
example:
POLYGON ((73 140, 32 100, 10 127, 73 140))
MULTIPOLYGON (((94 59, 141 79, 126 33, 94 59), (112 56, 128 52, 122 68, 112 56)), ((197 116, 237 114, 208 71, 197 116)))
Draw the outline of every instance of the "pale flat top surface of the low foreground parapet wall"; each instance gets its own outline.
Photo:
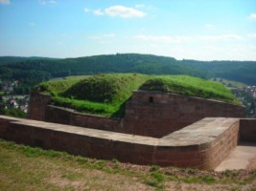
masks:
POLYGON ((84 137, 103 138, 111 141, 169 147, 209 144, 216 138, 220 137, 223 132, 228 130, 231 124, 239 122, 239 118, 205 117, 202 120, 199 120, 198 122, 163 138, 151 138, 31 119, 0 116, 0 120, 2 119, 9 120, 10 123, 14 124, 49 129, 68 134, 77 134, 84 137))

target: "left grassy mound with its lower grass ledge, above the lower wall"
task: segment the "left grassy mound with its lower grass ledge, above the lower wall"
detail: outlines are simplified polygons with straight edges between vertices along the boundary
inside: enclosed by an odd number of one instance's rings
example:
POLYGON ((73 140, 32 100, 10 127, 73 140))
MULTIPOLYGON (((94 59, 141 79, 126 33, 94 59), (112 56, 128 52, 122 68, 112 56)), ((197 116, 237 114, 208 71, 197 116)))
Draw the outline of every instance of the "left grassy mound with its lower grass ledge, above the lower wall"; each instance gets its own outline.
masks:
POLYGON ((38 85, 55 105, 104 117, 123 117, 133 90, 149 79, 144 74, 97 74, 47 81, 38 85))

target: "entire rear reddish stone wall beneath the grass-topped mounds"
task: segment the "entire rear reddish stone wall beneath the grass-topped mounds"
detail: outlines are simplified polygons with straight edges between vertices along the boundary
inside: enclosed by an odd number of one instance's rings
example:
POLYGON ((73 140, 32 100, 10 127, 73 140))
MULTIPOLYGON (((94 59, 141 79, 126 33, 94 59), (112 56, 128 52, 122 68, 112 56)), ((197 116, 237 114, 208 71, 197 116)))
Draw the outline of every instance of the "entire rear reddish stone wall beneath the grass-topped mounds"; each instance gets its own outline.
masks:
POLYGON ((29 118, 81 127, 161 138, 203 117, 244 117, 244 107, 193 96, 133 92, 122 119, 95 117, 48 105, 50 96, 31 94, 29 118))

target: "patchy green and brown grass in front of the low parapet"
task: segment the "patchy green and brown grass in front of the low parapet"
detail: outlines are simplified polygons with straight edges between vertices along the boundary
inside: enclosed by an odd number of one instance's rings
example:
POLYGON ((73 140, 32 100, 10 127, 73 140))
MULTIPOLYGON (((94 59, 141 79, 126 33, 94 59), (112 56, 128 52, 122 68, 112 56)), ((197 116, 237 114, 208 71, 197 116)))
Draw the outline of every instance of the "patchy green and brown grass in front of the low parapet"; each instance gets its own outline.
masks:
MULTIPOLYGON (((116 159, 88 159, 65 152, 15 144, 0 138, 0 190, 169 190, 170 184, 211 184, 217 188, 248 186, 256 169, 201 171, 141 166, 116 159), (89 185, 89 188, 87 187, 89 185), (149 187, 148 187, 149 186, 149 187)), ((214 189, 214 187, 213 187, 214 189)), ((239 189, 241 190, 241 189, 239 189)))

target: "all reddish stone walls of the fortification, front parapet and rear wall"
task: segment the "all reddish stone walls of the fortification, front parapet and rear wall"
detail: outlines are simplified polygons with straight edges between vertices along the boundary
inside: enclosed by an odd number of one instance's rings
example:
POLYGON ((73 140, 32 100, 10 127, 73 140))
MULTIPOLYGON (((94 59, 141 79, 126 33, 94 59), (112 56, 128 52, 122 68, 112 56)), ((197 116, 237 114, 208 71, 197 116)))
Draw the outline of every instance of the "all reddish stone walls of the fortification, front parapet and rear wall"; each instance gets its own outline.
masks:
POLYGON ((218 166, 239 139, 256 141, 256 119, 231 118, 244 117, 244 107, 216 100, 134 92, 122 119, 84 115, 50 100, 32 92, 29 117, 36 120, 0 116, 0 138, 90 158, 199 169, 218 166))

